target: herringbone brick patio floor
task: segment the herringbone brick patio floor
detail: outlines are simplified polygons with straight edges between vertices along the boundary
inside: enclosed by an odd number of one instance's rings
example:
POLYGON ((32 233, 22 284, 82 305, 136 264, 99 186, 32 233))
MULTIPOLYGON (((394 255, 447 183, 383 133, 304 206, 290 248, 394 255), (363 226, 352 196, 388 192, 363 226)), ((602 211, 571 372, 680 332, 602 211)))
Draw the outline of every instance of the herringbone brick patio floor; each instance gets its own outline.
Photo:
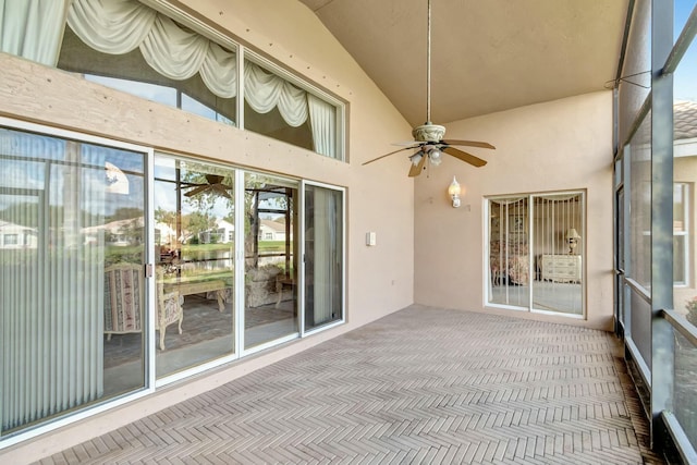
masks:
POLYGON ((41 463, 659 462, 643 456, 616 344, 412 306, 41 463))

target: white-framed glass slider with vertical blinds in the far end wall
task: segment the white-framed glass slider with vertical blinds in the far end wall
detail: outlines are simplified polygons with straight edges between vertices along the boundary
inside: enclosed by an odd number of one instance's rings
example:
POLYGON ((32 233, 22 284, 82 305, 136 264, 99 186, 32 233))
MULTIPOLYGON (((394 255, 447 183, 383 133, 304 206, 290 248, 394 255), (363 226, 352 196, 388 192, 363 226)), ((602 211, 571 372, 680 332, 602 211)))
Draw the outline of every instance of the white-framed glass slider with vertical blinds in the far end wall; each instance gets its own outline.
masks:
POLYGON ((584 194, 488 200, 487 304, 583 316, 584 194))

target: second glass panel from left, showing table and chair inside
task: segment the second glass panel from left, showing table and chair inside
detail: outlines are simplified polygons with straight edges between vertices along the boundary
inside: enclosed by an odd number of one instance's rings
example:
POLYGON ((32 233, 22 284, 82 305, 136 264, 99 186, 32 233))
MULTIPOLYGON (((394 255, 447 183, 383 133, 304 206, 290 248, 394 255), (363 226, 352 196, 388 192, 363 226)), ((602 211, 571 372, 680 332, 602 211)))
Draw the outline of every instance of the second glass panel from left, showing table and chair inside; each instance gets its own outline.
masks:
POLYGON ((155 157, 158 377, 235 352, 234 174, 155 157))

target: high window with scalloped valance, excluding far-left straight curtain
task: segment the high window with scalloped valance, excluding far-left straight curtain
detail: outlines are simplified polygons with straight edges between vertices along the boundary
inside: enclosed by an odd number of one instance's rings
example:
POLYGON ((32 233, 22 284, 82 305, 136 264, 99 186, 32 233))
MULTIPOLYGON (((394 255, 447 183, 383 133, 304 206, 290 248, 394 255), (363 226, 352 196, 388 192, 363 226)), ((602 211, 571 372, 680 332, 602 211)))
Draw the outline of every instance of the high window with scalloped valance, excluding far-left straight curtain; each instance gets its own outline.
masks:
POLYGON ((82 8, 85 1, 70 8, 58 68, 343 159, 343 107, 337 99, 252 52, 245 53, 239 82, 236 44, 208 39, 194 30, 206 27, 193 19, 182 19, 187 27, 136 0, 121 1, 118 9, 95 2, 82 8), (102 30, 99 25, 107 23, 102 30), (239 95, 244 96, 241 115, 239 95))

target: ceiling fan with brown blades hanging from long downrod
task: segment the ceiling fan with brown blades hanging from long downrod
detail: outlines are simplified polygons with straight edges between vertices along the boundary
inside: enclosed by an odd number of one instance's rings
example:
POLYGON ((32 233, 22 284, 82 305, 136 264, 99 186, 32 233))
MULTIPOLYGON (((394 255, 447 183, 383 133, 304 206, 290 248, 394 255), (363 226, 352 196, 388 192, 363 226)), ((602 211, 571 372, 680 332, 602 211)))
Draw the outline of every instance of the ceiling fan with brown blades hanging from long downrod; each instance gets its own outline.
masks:
POLYGON ((426 48, 426 123, 420 126, 414 127, 412 136, 414 140, 406 143, 399 143, 394 145, 405 145, 407 147, 400 148, 399 150, 384 154, 378 158, 366 161, 363 164, 372 163, 390 155, 396 154, 402 150, 417 149, 417 151, 409 156, 412 167, 409 169, 409 176, 418 176, 421 171, 426 169, 426 160, 437 167, 441 162, 441 154, 445 152, 453 157, 469 163, 474 167, 484 167, 487 164, 481 158, 475 157, 472 154, 460 150, 453 146, 477 147, 477 148, 496 148, 491 144, 477 140, 457 140, 457 139, 443 139, 445 135, 445 127, 439 124, 431 123, 431 0, 428 0, 428 32, 427 32, 427 48, 426 48))

